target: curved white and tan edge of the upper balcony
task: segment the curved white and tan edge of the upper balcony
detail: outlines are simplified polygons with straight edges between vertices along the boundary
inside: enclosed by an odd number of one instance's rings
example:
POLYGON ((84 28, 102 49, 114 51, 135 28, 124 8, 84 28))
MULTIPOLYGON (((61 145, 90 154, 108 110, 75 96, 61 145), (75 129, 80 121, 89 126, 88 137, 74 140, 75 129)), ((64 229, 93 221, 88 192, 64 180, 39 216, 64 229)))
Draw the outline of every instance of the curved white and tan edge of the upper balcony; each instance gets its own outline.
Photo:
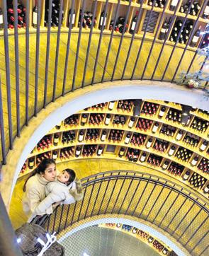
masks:
POLYGON ((41 110, 37 117, 30 120, 28 127, 23 127, 21 137, 15 139, 13 150, 7 155, 7 164, 1 170, 1 193, 6 206, 9 206, 11 194, 23 163, 38 141, 52 127, 85 107, 130 98, 167 100, 209 110, 208 98, 203 91, 191 90, 166 82, 106 82, 68 93, 58 98, 55 103, 47 105, 46 109, 41 110))

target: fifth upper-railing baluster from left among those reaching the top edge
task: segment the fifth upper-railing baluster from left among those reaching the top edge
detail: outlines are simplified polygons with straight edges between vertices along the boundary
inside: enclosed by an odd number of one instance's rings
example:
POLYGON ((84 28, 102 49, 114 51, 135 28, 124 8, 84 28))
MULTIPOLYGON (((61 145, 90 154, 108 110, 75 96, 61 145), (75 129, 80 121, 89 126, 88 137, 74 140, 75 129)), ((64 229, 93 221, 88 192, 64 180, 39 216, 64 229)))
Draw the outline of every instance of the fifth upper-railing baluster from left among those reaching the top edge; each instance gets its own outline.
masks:
POLYGON ((44 108, 47 105, 47 85, 48 85, 48 69, 49 69, 49 57, 50 57, 51 22, 52 22, 52 0, 49 0, 48 24, 47 24, 47 52, 46 52, 46 64, 45 64, 45 86, 44 86, 44 98, 43 98, 44 108))

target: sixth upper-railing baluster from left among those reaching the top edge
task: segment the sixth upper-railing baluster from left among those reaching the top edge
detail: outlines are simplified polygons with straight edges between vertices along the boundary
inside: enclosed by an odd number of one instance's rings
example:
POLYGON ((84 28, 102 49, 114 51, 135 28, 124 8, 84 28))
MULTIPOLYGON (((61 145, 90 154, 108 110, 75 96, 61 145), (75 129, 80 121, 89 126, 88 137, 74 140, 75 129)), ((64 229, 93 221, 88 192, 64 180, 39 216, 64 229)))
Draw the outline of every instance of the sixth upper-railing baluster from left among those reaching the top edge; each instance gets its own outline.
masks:
POLYGON ((57 47, 56 47, 52 102, 55 102, 55 99, 56 99, 57 68, 58 68, 58 59, 59 59, 59 50, 60 50, 60 33, 61 33, 61 25, 62 25, 62 6, 63 6, 63 0, 60 0, 60 11, 59 11, 59 23, 58 23, 58 32, 57 32, 57 47))

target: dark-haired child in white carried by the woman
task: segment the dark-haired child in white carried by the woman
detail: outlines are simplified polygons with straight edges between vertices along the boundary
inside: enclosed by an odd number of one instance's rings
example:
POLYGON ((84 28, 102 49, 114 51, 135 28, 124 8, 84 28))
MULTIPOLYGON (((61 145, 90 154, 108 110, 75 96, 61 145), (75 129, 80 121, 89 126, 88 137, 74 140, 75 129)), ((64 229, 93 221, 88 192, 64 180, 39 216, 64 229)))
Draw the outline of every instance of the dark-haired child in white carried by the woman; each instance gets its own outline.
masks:
POLYGON ((45 199, 35 209, 38 212, 44 212, 52 204, 73 204, 83 197, 81 183, 71 169, 62 170, 56 181, 48 182, 45 186, 45 194, 45 199))

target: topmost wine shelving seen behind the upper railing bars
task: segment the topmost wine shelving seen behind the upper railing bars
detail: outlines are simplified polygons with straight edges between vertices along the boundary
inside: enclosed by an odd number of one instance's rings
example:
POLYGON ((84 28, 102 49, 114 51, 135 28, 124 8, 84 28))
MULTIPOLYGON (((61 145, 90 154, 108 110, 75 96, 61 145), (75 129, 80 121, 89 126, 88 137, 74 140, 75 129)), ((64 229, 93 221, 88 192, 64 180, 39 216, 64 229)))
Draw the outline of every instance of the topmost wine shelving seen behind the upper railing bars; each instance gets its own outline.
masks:
MULTIPOLYGON (((9 33, 13 32, 13 5, 12 0, 8 1, 8 24, 9 33)), ((18 1, 18 28, 20 33, 25 33, 26 31, 26 2, 27 0, 18 1)), ((47 31, 47 12, 48 12, 48 1, 40 1, 40 31, 47 31)), ((52 31, 58 26, 59 20, 59 9, 60 1, 54 0, 52 6, 52 31)), ((81 0, 75 1, 73 18, 72 18, 72 31, 77 32, 79 29, 81 21, 81 8, 84 2, 81 0)), ((118 1, 109 0, 106 17, 104 17, 104 7, 106 0, 85 0, 84 9, 84 20, 83 20, 83 32, 90 31, 91 23, 94 23, 94 32, 100 33, 99 28, 101 28, 101 23, 103 18, 104 22, 104 33, 111 33, 113 29, 113 21, 115 18, 115 9, 117 7, 118 1), (94 12, 94 6, 96 5, 96 15, 94 21, 92 21, 92 16, 94 12)), ((208 8, 209 4, 207 1, 198 0, 194 1, 189 7, 190 2, 187 0, 164 0, 164 1, 150 1, 150 0, 132 0, 130 1, 130 11, 129 1, 121 0, 120 8, 118 11, 118 20, 115 25, 115 35, 123 33, 123 27, 125 26, 125 36, 132 34, 135 26, 135 37, 142 37, 147 25, 147 17, 150 11, 152 11, 151 21, 148 24, 146 38, 152 40, 157 36, 157 42, 163 42, 169 45, 174 45, 176 40, 178 47, 188 47, 188 49, 196 50, 196 47, 205 47, 208 45, 208 37, 204 35, 205 38, 201 40, 200 32, 205 31, 205 26, 209 22, 208 8), (140 3, 142 3, 142 16, 140 17, 140 22, 137 23, 137 13, 140 10, 140 3), (153 5, 153 8, 152 8, 153 5), (190 11, 189 11, 190 10, 190 11), (189 11, 188 15, 186 14, 189 11), (128 14, 127 24, 125 24, 125 14, 128 14), (171 22, 171 18, 174 16, 174 21, 171 22), (183 30, 180 33, 181 25, 183 24, 183 19, 186 17, 186 23, 183 26, 183 30), (198 18, 198 20, 197 20, 198 18), (196 22, 197 20, 197 22, 196 22), (160 23, 160 24, 159 24, 160 23), (159 28, 158 28, 159 25, 159 28), (193 27, 194 26, 194 27, 193 27), (158 28, 158 29, 157 29, 158 28), (180 35, 181 34, 181 35, 180 35)), ((2 8, 3 2, 0 1, 0 7, 2 8)), ((72 8, 71 0, 63 1, 62 8, 62 29, 68 29, 70 21, 70 10, 72 8)), ((30 0, 29 8, 29 28, 30 31, 35 31, 37 26, 37 12, 38 12, 38 1, 30 0)), ((3 16, 2 11, 0 11, 0 28, 3 28, 3 16)), ((0 30, 1 33, 2 30, 0 30)), ((2 33, 3 35, 3 33, 2 33)))

